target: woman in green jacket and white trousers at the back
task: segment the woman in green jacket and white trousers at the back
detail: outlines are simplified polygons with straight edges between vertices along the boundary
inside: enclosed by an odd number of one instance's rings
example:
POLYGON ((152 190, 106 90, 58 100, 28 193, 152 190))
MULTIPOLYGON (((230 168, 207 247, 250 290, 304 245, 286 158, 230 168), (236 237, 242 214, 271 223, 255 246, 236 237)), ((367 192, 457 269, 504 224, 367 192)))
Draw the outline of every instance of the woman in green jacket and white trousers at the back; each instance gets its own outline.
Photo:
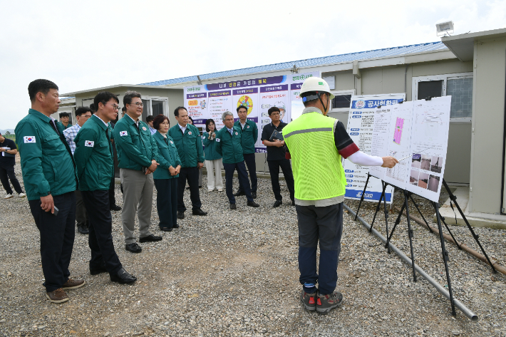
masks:
POLYGON ((208 119, 205 122, 205 130, 207 133, 202 135, 204 142, 204 157, 205 157, 205 168, 207 170, 207 190, 212 192, 215 190, 215 186, 218 192, 223 190, 223 177, 222 177, 222 156, 215 150, 216 145, 216 125, 215 121, 208 119), (213 174, 213 170, 215 174, 213 174), (216 178, 215 178, 216 175, 216 178))

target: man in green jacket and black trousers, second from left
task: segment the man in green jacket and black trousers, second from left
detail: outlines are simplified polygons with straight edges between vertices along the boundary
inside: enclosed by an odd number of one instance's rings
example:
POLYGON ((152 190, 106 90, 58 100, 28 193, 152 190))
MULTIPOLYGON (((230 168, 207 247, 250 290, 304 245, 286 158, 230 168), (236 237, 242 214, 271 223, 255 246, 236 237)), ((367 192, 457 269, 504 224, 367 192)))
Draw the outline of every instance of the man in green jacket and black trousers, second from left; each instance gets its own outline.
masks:
POLYGON ((79 190, 86 209, 92 210, 88 212, 90 274, 108 271, 111 281, 130 284, 137 279, 123 269, 114 250, 109 202, 110 183, 114 179, 114 157, 108 123, 118 115, 120 100, 113 93, 104 91, 95 96, 94 103, 98 110, 74 140, 79 190))

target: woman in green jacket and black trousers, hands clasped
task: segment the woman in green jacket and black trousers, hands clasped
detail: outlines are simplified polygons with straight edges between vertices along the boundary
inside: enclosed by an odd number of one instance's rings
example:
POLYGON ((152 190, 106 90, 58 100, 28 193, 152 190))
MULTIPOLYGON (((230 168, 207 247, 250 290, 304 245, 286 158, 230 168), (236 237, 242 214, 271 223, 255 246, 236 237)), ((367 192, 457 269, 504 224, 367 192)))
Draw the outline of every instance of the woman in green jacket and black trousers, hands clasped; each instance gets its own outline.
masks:
POLYGON ((170 128, 169 118, 158 115, 153 120, 153 128, 157 130, 153 138, 158 145, 158 162, 160 166, 153 172, 153 180, 158 191, 156 208, 160 219, 160 230, 172 232, 177 225, 177 177, 181 170, 181 160, 177 155, 174 140, 167 135, 170 128))

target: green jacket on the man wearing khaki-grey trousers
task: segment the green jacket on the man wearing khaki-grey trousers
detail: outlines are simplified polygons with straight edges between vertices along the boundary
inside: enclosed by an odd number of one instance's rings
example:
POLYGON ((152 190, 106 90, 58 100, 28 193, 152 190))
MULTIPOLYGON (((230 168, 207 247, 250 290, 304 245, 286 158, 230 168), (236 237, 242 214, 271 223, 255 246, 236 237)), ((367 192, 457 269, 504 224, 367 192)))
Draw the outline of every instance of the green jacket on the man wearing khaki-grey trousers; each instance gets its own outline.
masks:
POLYGON ((133 119, 125 115, 116 123, 113 138, 118 152, 118 167, 141 171, 143 167, 151 166, 151 160, 157 160, 158 147, 148 124, 142 120, 139 120, 137 129, 133 119))

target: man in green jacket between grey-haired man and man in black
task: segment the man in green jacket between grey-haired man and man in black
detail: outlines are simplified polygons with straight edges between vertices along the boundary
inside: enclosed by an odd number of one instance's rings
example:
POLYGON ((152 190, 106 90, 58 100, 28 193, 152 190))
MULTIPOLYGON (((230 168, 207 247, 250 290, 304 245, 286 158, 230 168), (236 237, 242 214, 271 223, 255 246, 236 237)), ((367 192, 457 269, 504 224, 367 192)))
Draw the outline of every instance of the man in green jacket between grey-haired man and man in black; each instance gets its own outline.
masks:
MULTIPOLYGON (((249 177, 252 180, 252 197, 253 199, 257 199, 257 163, 254 160, 254 145, 258 139, 258 127, 257 123, 254 123, 253 120, 247 119, 248 116, 248 108, 244 105, 240 105, 237 108, 237 115, 239 116, 239 120, 236 120, 234 126, 241 128, 241 145, 242 145, 242 155, 244 156, 244 163, 248 167, 249 177)), ((239 181, 239 190, 234 194, 235 197, 239 195, 246 195, 244 193, 244 187, 242 187, 241 182, 239 181)))

